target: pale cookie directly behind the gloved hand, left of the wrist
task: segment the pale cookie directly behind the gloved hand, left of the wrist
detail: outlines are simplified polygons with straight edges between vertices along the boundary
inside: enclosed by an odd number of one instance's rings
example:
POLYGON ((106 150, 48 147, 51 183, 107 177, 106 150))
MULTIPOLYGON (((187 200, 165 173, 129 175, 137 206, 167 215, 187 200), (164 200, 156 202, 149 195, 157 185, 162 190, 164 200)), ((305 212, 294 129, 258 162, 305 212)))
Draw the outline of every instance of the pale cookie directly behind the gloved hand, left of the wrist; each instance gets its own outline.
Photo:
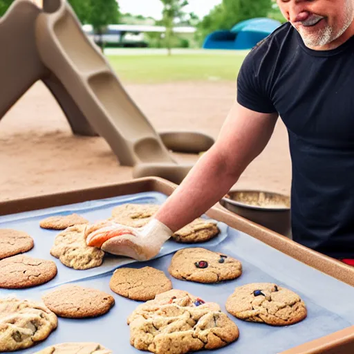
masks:
POLYGON ((159 207, 156 204, 122 204, 112 210, 110 220, 126 226, 142 227, 149 223, 159 207))

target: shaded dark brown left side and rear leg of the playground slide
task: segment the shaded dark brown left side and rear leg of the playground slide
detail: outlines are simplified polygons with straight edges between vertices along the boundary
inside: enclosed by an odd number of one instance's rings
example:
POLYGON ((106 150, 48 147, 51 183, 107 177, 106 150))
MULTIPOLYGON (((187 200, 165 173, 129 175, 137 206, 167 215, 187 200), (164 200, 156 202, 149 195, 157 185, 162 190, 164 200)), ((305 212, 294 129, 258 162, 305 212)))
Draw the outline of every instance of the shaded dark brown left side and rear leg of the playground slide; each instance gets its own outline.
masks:
POLYGON ((4 48, 0 57, 0 120, 32 84, 43 80, 62 107, 73 132, 93 136, 95 131, 80 109, 39 58, 34 24, 40 12, 31 1, 17 0, 0 19, 0 47, 4 48))

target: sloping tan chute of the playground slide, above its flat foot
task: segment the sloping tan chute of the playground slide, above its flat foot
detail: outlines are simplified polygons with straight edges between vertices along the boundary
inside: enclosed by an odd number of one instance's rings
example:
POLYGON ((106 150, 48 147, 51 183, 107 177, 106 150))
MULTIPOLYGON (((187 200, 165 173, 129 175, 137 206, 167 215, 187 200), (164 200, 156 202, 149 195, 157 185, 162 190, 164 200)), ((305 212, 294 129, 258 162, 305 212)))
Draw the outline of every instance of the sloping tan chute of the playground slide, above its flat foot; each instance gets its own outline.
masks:
POLYGON ((122 165, 174 163, 169 151, 120 84, 110 64, 82 31, 64 0, 44 1, 36 21, 41 61, 62 82, 122 165))

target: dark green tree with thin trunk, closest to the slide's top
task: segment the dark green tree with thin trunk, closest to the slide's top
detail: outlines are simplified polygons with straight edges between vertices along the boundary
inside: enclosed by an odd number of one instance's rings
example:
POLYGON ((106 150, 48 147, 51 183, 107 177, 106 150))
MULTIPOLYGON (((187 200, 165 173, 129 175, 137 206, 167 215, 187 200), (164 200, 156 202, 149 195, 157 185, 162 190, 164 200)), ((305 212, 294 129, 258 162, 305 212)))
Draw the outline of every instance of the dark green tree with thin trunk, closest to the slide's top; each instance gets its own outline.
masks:
MULTIPOLYGON (((81 0, 78 0, 81 1, 81 0)), ((118 24, 120 12, 116 0, 87 0, 89 4, 88 23, 93 26, 95 34, 99 35, 97 44, 102 48, 102 34, 109 24, 118 24)))

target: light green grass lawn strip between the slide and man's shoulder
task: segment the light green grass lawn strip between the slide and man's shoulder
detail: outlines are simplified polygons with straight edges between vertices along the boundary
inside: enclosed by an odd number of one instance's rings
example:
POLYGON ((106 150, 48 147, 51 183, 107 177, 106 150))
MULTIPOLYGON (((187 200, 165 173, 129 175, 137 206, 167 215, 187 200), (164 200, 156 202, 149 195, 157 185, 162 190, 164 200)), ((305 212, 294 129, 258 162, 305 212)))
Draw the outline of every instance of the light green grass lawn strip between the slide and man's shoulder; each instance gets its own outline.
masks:
POLYGON ((245 52, 167 55, 108 55, 122 82, 236 80, 245 52))

